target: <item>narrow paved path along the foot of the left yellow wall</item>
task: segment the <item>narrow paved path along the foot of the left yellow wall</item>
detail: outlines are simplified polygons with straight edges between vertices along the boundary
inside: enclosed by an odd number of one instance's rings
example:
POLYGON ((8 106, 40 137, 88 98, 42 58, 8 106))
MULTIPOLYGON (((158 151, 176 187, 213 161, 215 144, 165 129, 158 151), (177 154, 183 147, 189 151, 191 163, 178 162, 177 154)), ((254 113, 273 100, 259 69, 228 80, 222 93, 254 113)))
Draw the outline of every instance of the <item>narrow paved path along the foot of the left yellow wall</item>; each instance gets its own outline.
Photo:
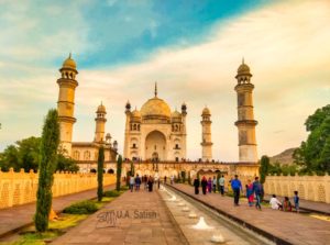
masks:
MULTIPOLYGON (((105 189, 113 189, 114 185, 108 186, 105 189)), ((74 194, 54 198, 53 209, 55 212, 62 212, 73 202, 94 199, 97 197, 96 189, 81 191, 74 194)), ((35 213, 35 202, 16 205, 9 209, 0 209, 0 237, 19 231, 20 229, 32 224, 35 213)))

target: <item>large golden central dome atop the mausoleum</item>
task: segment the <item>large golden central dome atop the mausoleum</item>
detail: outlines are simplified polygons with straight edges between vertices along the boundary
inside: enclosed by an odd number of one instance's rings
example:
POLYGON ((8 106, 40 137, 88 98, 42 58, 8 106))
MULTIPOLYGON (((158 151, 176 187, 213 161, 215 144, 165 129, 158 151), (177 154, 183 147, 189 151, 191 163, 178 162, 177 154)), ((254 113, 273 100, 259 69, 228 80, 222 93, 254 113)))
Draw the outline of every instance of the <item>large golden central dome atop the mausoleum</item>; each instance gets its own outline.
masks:
POLYGON ((170 109, 168 104, 157 98, 154 97, 147 100, 141 108, 141 115, 144 116, 160 116, 160 118, 170 118, 170 109))

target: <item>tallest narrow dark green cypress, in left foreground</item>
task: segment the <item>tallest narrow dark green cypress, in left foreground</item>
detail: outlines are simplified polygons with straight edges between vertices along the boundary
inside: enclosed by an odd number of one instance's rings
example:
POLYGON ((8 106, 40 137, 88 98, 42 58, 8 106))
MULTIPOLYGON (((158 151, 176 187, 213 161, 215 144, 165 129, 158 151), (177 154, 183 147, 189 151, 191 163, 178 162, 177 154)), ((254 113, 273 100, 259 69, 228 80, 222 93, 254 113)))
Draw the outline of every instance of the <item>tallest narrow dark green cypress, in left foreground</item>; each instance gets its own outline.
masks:
POLYGON ((40 145, 38 187, 36 192, 35 229, 45 232, 48 229, 48 216, 52 208, 52 186, 57 165, 59 144, 59 125, 57 111, 50 110, 44 122, 40 145))

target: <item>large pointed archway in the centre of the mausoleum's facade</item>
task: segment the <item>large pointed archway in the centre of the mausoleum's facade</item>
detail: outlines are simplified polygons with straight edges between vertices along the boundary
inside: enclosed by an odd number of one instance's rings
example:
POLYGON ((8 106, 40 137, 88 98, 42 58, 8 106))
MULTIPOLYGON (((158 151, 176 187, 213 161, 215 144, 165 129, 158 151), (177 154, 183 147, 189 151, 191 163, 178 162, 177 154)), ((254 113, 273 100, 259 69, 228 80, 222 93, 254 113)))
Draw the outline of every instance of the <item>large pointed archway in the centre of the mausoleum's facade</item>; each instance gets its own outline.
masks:
POLYGON ((166 137, 160 131, 153 131, 145 137, 145 159, 166 160, 166 137))

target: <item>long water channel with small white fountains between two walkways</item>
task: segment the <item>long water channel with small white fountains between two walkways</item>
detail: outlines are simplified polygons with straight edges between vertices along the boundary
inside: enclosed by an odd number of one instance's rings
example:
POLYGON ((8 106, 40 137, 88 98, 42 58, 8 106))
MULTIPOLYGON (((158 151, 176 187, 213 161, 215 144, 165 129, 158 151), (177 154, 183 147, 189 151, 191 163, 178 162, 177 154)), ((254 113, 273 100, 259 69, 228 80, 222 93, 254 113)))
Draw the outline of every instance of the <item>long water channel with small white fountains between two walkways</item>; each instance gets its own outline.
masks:
POLYGON ((172 188, 162 186, 160 193, 191 245, 275 244, 172 188))

